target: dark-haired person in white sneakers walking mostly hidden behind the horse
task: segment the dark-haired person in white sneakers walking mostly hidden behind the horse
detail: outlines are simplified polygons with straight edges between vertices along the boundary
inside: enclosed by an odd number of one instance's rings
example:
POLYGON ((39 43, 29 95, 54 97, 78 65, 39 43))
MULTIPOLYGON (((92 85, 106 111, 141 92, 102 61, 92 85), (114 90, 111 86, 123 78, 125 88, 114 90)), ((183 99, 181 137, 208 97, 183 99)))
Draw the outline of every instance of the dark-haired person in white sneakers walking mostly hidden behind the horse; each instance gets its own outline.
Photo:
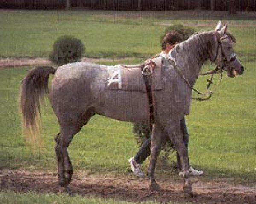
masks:
MULTIPOLYGON (((172 50, 172 48, 175 47, 178 43, 182 42, 182 35, 178 33, 177 31, 169 31, 166 33, 166 35, 163 38, 162 41, 162 52, 159 54, 159 57, 166 57, 166 55, 169 53, 169 51, 172 50)), ((188 148, 188 142, 189 142, 189 134, 187 132, 186 128, 186 121, 185 118, 183 118, 180 121, 181 126, 181 132, 183 135, 183 141, 188 148)), ((134 157, 129 159, 129 163, 131 165, 132 172, 139 177, 144 176, 143 171, 141 170, 141 164, 147 157, 150 155, 150 145, 151 145, 151 136, 148 137, 148 139, 145 140, 145 142, 140 146, 140 149, 136 153, 134 157)), ((180 156, 177 153, 177 166, 179 170, 181 170, 181 161, 180 156)), ((195 170, 192 166, 189 164, 189 173, 193 176, 200 176, 204 172, 195 170)))

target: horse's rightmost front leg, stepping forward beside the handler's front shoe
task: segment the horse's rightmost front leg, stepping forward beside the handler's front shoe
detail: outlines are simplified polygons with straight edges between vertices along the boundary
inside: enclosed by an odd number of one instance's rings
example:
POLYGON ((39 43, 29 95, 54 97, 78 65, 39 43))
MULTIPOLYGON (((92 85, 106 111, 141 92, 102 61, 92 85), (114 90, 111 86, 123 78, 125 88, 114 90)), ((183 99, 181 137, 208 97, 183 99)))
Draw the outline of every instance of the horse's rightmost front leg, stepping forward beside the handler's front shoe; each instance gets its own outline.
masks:
POLYGON ((187 147, 183 141, 183 136, 180 127, 180 121, 172 122, 172 124, 166 125, 165 130, 167 131, 169 138, 174 144, 175 149, 180 155, 182 173, 181 176, 184 179, 184 187, 183 190, 185 193, 189 195, 193 195, 192 193, 192 185, 189 174, 189 159, 188 159, 188 151, 187 147))

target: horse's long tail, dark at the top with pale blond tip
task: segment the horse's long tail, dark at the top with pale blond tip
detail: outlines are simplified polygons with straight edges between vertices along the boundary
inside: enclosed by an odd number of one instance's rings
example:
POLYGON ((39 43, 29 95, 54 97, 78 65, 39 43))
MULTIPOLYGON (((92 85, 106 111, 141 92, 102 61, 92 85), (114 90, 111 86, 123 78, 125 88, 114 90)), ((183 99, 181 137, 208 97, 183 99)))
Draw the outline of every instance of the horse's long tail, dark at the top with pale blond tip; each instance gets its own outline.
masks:
POLYGON ((39 67, 29 71, 20 85, 19 111, 22 118, 23 133, 32 145, 41 145, 40 103, 49 94, 48 78, 55 74, 53 67, 39 67))

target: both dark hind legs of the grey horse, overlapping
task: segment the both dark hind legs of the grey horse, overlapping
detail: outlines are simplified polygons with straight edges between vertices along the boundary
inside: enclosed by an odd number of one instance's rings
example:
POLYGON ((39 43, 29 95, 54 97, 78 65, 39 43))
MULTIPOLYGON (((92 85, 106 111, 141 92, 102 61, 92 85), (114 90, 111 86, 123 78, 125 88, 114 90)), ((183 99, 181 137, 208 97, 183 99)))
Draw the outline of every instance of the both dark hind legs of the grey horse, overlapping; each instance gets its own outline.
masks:
POLYGON ((67 148, 72 137, 79 132, 81 127, 83 127, 93 115, 94 112, 88 110, 83 117, 77 117, 76 122, 73 121, 68 125, 61 125, 61 133, 55 137, 58 181, 59 185, 61 186, 61 191, 69 191, 68 184, 70 183, 73 174, 73 167, 67 152, 67 148))

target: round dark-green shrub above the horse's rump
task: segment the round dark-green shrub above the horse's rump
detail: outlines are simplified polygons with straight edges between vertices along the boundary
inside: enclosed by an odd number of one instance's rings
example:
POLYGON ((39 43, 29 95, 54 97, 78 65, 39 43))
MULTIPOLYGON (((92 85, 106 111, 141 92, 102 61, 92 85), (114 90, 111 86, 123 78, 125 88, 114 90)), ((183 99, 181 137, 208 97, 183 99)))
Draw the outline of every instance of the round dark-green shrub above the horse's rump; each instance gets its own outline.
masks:
POLYGON ((84 55, 84 44, 76 37, 60 37, 53 44, 50 60, 57 65, 78 62, 84 55))

